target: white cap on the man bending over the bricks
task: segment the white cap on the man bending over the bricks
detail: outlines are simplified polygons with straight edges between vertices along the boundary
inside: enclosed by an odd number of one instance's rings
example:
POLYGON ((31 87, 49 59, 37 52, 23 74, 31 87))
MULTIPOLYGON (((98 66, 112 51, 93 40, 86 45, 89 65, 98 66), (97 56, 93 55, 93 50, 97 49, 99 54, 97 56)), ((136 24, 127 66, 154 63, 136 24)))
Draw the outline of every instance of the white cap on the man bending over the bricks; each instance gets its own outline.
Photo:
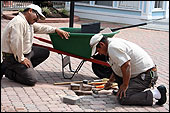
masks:
POLYGON ((91 56, 93 56, 96 53, 96 46, 100 42, 100 40, 103 38, 103 35, 101 33, 95 34, 90 39, 90 46, 92 48, 91 56))

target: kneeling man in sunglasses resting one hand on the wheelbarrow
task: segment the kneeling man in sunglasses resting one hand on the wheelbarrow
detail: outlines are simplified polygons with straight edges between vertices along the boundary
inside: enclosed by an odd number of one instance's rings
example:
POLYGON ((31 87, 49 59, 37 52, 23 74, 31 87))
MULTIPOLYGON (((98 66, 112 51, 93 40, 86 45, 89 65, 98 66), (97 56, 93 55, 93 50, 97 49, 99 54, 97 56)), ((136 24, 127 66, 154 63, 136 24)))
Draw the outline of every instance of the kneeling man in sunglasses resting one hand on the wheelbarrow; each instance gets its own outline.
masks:
POLYGON ((69 38, 69 32, 41 25, 37 23, 39 19, 45 20, 42 9, 38 5, 30 4, 6 25, 1 38, 1 77, 5 74, 10 80, 34 86, 38 80, 34 67, 49 57, 47 48, 33 45, 34 33, 56 32, 61 38, 69 38))

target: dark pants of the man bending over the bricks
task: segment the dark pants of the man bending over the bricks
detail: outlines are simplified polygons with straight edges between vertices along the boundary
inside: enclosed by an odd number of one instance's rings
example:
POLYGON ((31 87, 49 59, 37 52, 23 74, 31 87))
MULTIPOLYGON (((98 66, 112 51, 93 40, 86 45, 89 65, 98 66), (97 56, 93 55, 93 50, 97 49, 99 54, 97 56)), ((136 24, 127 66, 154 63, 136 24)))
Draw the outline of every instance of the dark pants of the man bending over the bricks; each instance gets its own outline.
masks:
MULTIPOLYGON (((153 72, 157 76, 157 72, 153 72)), ((118 86, 122 84, 122 78, 115 76, 118 86)), ((152 77, 150 71, 147 73, 139 74, 135 78, 131 78, 129 81, 129 86, 126 91, 126 97, 119 99, 119 103, 122 105, 140 105, 140 106, 152 106, 153 105, 153 94, 150 90, 152 77)), ((157 80, 157 79, 156 79, 157 80)))

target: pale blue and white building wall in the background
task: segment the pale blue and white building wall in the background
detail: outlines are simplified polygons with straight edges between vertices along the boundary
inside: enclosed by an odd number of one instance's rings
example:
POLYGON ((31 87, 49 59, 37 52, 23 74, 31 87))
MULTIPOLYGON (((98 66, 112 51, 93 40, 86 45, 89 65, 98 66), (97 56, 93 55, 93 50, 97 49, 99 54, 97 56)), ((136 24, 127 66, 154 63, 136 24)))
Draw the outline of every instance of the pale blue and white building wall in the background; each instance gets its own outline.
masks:
MULTIPOLYGON (((164 9, 169 9, 169 1, 164 9)), ((139 1, 138 8, 128 9, 118 7, 119 1, 113 1, 113 7, 95 5, 95 1, 90 4, 75 3, 75 15, 80 18, 94 19, 99 21, 117 22, 125 24, 137 24, 147 20, 162 18, 161 13, 154 13, 154 1, 139 1)), ((66 3, 69 10, 69 2, 66 3)), ((164 10, 165 12, 165 10, 164 10)), ((168 13, 165 13, 169 17, 168 13)))

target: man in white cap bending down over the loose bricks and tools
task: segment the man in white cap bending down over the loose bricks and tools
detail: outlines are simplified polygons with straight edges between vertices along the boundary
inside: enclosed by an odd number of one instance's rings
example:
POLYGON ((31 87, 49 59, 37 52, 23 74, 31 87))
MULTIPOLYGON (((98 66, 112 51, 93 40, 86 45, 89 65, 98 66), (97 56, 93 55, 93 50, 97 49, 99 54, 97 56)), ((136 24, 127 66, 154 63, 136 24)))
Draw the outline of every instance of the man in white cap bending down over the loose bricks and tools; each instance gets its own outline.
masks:
POLYGON ((116 96, 121 105, 152 106, 156 99, 157 105, 166 100, 166 87, 154 87, 158 79, 156 66, 151 57, 138 45, 121 39, 108 38, 101 33, 95 34, 90 40, 92 56, 103 54, 113 70, 104 89, 112 82, 118 83, 116 96))

